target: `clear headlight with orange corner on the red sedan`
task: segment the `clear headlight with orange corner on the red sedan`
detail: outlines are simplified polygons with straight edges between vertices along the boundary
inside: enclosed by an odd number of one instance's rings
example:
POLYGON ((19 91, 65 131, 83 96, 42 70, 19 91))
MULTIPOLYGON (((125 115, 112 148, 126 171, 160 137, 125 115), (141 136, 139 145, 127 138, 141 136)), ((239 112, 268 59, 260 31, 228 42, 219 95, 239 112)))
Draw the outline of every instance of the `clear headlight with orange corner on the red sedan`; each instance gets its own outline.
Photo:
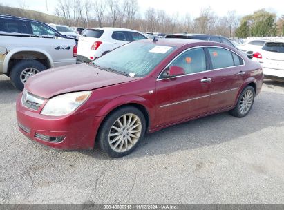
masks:
POLYGON ((83 91, 55 96, 48 100, 41 114, 50 116, 68 115, 86 102, 91 93, 91 91, 83 91))

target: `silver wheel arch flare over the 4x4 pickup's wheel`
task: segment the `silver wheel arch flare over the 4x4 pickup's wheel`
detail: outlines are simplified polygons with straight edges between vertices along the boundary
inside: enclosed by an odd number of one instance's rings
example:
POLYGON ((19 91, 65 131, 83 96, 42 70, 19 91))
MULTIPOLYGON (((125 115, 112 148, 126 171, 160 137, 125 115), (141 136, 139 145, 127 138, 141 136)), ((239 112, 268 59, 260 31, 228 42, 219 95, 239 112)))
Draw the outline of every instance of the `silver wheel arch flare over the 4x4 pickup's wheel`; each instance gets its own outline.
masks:
POLYGON ((46 50, 41 50, 38 48, 15 48, 10 50, 10 52, 6 55, 3 61, 3 73, 9 74, 10 69, 12 68, 13 62, 16 59, 36 59, 41 61, 46 61, 42 63, 46 66, 46 68, 53 68, 53 59, 46 52, 46 50))

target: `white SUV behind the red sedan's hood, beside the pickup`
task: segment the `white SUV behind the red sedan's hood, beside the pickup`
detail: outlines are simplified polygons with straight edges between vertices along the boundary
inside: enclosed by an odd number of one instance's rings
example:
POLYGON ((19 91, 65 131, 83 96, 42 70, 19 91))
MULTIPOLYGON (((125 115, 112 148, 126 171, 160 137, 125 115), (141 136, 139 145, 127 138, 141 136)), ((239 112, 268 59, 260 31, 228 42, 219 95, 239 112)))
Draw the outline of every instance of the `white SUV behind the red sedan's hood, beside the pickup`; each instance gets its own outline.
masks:
POLYGON ((126 28, 86 28, 78 42, 79 61, 91 62, 131 41, 147 39, 142 33, 126 28))

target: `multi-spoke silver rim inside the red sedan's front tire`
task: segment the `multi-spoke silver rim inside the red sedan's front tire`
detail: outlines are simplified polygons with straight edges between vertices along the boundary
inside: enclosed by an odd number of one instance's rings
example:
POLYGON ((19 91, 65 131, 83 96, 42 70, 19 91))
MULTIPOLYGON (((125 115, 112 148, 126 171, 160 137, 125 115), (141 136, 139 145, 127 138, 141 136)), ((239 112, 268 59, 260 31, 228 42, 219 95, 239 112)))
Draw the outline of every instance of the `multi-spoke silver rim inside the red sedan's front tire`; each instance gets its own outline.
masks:
POLYGON ((142 123, 137 115, 122 115, 111 126, 108 144, 117 153, 129 151, 138 142, 141 132, 142 123))

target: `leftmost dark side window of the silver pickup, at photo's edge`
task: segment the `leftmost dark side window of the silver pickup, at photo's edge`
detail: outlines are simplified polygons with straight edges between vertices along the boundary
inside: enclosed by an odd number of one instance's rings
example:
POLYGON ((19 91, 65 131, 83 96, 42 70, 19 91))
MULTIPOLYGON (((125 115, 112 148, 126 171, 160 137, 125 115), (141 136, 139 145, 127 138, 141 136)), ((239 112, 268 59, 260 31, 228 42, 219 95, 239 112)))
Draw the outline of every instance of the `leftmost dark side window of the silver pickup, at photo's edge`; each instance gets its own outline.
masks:
POLYGON ((14 19, 1 19, 0 31, 29 34, 27 22, 14 19))

